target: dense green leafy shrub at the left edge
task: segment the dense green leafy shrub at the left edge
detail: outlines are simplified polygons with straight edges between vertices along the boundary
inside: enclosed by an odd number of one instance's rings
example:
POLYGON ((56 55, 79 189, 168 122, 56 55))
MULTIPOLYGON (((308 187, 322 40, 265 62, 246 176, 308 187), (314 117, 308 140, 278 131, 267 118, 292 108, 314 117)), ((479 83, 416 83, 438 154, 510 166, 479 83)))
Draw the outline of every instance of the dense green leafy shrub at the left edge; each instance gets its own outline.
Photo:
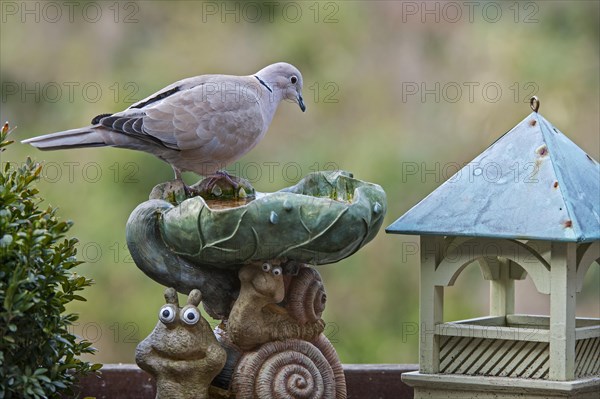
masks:
MULTIPOLYGON (((5 125, 0 151, 8 133, 5 125)), ((78 358, 95 349, 68 330, 78 316, 65 305, 85 300, 76 292, 92 281, 72 272, 81 263, 77 240, 64 238, 72 223, 39 209, 40 171, 30 158, 0 170, 0 399, 60 397, 101 367, 78 358)))

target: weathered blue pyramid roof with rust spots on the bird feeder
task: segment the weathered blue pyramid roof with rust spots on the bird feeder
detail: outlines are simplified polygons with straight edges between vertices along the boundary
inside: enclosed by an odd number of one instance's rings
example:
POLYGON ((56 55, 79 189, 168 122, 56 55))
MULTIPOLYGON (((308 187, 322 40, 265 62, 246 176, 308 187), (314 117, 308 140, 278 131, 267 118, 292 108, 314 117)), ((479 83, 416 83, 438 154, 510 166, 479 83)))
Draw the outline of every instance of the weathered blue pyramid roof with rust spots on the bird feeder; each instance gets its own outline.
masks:
POLYGON ((533 112, 386 232, 599 240, 600 165, 533 112))

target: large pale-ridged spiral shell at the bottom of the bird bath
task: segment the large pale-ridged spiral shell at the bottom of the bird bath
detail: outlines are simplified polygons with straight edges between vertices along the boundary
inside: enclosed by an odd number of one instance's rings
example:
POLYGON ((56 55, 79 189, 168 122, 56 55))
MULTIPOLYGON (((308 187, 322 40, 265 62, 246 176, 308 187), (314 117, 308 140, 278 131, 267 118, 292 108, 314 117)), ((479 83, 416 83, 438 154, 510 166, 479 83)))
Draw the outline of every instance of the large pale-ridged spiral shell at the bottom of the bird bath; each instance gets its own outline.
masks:
POLYGON ((236 399, 337 398, 335 373, 313 344, 273 341, 246 353, 233 375, 236 399))

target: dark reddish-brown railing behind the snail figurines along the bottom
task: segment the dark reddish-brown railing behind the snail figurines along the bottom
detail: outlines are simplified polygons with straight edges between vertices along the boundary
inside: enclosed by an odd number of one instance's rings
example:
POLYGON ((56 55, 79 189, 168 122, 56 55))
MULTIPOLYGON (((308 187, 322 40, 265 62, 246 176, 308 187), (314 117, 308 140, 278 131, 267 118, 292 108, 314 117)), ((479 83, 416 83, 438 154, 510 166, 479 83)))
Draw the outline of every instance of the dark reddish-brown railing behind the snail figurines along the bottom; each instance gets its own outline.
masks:
MULTIPOLYGON (((412 399, 413 390, 401 380, 416 364, 345 364, 348 399, 412 399)), ((154 399, 154 378, 135 364, 106 364, 100 376, 82 378, 79 397, 154 399)))

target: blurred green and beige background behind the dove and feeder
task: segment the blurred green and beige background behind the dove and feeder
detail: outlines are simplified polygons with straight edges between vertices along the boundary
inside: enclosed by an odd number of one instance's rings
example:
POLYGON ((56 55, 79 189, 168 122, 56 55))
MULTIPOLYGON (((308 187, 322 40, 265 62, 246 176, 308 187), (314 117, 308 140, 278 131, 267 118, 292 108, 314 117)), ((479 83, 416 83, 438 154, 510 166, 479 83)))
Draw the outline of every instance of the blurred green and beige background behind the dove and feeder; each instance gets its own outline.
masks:
MULTIPOLYGON (((597 1, 68 4, 1 2, 0 118, 18 125, 14 139, 87 125, 184 77, 287 61, 303 73, 307 112, 282 104, 266 138, 228 169, 259 191, 349 170, 384 187, 387 226, 529 114, 533 94, 544 117, 600 155, 597 1)), ((75 222, 86 261, 78 272, 96 281, 71 309, 81 313, 75 333, 95 342, 94 361, 133 362, 163 287, 131 262, 125 223, 171 168, 109 148, 15 145, 1 161, 27 155, 45 162, 42 196, 75 222)), ((319 269, 327 333, 343 362, 417 362, 417 242, 382 231, 319 269)), ((600 316, 598 269, 578 316, 600 316)), ((446 319, 487 314, 476 266, 447 293, 446 319)), ((529 279, 518 282, 518 312, 547 314, 548 304, 529 279)))

